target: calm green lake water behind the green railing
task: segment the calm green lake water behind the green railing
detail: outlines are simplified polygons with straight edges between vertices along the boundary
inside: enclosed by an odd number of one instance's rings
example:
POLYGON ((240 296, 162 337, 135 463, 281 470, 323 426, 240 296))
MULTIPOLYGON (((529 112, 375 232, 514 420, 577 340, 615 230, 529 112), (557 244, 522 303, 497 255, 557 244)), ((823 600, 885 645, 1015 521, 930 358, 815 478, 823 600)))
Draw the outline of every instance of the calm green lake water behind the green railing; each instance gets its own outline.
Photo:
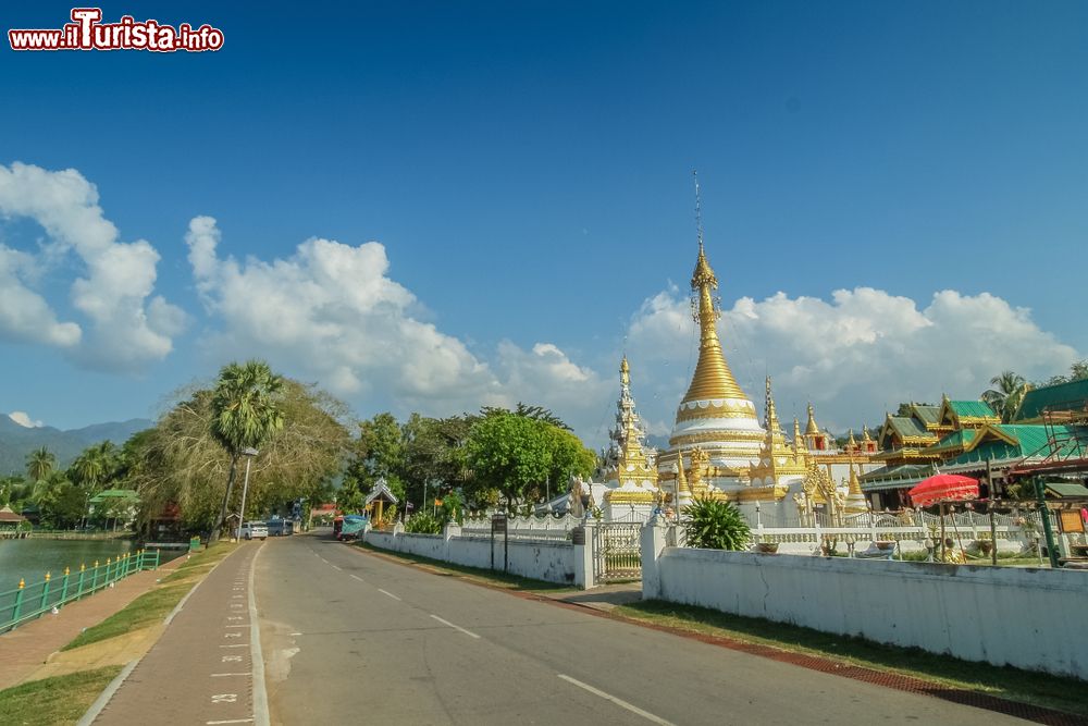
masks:
MULTIPOLYGON (((26 583, 39 582, 50 573, 55 579, 65 567, 73 573, 79 565, 91 567, 95 561, 106 564, 133 549, 131 540, 0 540, 0 592, 18 587, 18 579, 26 583)), ((173 554, 173 553, 172 553, 173 554)), ((163 561, 169 555, 163 552, 163 561)))

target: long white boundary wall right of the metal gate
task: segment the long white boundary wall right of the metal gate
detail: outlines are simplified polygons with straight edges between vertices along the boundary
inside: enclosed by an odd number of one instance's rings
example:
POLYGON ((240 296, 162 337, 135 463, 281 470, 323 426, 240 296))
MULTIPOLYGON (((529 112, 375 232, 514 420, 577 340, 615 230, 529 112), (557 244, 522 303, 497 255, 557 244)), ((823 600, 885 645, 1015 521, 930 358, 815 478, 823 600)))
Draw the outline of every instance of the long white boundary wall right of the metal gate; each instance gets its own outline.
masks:
POLYGON ((769 555, 642 538, 643 598, 1088 680, 1088 573, 769 555))

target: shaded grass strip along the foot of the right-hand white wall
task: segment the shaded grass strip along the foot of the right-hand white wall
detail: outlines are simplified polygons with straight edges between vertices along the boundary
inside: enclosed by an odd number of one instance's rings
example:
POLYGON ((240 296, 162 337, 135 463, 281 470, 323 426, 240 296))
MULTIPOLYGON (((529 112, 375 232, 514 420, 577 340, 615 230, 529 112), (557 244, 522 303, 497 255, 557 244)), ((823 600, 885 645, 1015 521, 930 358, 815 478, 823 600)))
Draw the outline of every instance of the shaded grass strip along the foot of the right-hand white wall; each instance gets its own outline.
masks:
POLYGON ((1042 673, 961 661, 919 649, 883 645, 762 618, 658 600, 620 605, 613 614, 678 630, 818 655, 874 670, 899 673, 941 686, 1088 716, 1084 682, 1042 673))

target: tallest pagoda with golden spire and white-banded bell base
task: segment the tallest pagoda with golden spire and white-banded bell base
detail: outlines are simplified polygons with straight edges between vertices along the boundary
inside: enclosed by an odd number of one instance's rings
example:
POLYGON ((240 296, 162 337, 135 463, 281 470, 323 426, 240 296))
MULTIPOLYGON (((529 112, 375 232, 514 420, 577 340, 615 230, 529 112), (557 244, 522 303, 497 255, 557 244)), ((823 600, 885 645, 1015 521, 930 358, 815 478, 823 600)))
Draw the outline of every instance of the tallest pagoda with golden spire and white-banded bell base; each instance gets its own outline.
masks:
MULTIPOLYGON (((706 259, 700 231, 698 257, 691 278, 692 313, 700 330, 698 362, 688 393, 677 409, 669 450, 658 457, 658 470, 663 480, 671 481, 676 476, 672 465, 678 457, 690 464, 691 454, 698 450, 696 457, 701 459, 705 455, 707 465, 706 470, 697 475, 702 476, 712 495, 747 484, 749 469, 759 462, 765 435, 755 405, 737 384, 721 350, 717 288, 718 279, 706 259)), ((688 471, 689 480, 693 481, 690 466, 688 471)), ((668 491, 672 487, 665 489, 668 491)))

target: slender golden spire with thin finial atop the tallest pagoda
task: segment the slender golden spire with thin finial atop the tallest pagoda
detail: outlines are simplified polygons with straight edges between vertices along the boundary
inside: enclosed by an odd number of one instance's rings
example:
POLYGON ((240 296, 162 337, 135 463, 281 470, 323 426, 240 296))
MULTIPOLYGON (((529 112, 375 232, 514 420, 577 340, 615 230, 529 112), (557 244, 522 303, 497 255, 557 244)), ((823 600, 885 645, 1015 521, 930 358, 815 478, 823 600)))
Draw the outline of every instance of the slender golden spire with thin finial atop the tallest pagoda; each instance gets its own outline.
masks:
MULTIPOLYGON (((695 177, 695 213, 700 214, 698 177, 695 177)), ((714 274, 714 269, 706 259, 706 250, 703 248, 703 225, 698 222, 698 258, 695 261, 695 271, 691 275, 692 290, 692 316, 698 323, 698 362, 695 365, 695 374, 691 379, 691 386, 683 397, 684 403, 691 401, 707 401, 721 398, 747 399, 741 387, 737 385, 737 379, 729 370, 726 357, 721 353, 721 343, 718 341, 718 318, 721 317, 721 309, 715 296, 718 288, 718 278, 714 274)))

